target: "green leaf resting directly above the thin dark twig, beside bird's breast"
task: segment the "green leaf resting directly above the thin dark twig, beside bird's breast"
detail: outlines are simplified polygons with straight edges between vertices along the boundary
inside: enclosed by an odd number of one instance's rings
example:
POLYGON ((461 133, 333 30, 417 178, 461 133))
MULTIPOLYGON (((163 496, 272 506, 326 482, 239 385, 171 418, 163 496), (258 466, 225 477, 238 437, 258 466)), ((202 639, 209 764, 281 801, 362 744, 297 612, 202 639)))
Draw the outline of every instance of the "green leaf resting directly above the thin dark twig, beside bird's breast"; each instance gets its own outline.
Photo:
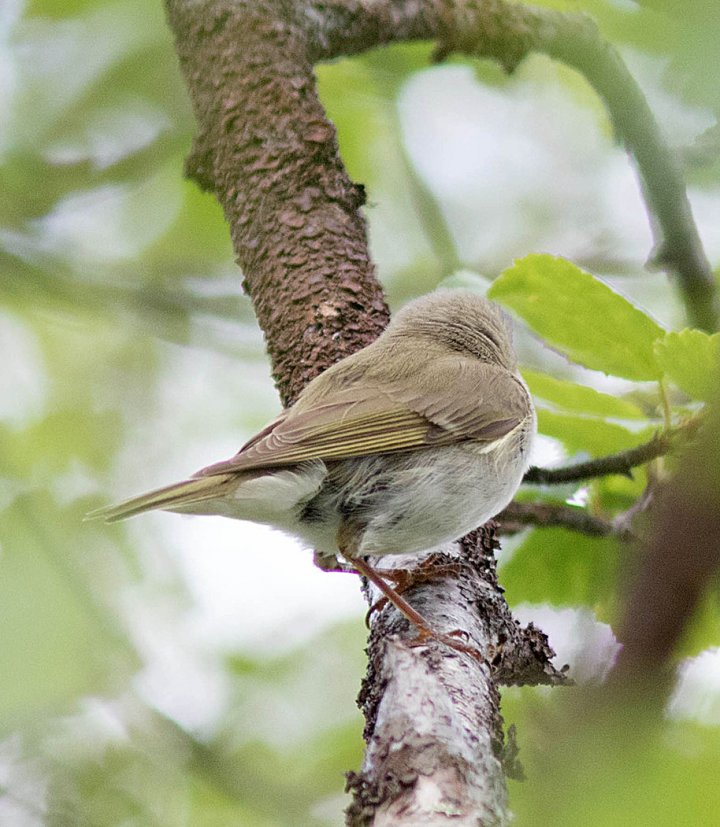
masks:
POLYGON ((537 411, 538 431, 559 440, 570 453, 584 451, 593 457, 625 451, 645 442, 652 429, 629 431, 614 422, 584 416, 560 414, 540 408, 537 411))

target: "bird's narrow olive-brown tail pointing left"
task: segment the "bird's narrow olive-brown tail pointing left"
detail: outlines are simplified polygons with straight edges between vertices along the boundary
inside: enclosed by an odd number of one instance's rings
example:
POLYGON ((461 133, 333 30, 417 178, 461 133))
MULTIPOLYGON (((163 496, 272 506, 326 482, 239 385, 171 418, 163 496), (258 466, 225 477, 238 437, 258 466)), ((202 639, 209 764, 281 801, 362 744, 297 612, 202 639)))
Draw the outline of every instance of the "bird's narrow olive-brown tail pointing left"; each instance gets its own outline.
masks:
MULTIPOLYGON (((85 519, 114 523, 153 509, 193 513, 194 507, 222 496, 223 489, 231 478, 231 474, 213 474, 212 476, 183 480, 183 482, 176 482, 173 485, 166 485, 164 488, 148 491, 147 494, 140 494, 138 497, 125 500, 117 505, 98 508, 87 514, 85 519)), ((202 512, 202 507, 198 508, 198 513, 202 512)))

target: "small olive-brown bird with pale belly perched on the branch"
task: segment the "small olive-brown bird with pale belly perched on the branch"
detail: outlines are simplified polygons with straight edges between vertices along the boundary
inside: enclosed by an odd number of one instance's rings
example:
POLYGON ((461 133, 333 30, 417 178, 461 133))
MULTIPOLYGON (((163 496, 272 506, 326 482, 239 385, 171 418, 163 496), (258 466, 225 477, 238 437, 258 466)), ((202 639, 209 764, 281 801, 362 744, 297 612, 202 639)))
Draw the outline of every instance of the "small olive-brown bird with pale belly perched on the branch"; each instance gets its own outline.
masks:
POLYGON ((471 290, 437 290, 315 377, 232 458, 87 518, 160 509, 273 526, 315 549, 323 567, 339 553, 419 640, 463 649, 368 558, 421 554, 498 514, 529 466, 535 431, 507 314, 471 290))

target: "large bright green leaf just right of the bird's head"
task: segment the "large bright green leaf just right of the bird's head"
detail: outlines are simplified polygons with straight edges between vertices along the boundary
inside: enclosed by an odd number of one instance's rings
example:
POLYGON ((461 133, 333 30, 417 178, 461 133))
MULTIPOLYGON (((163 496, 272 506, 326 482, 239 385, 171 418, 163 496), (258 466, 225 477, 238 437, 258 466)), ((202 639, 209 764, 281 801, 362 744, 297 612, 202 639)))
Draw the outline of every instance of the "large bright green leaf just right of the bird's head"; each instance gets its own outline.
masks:
POLYGON ((530 255, 505 270, 488 296, 511 307, 574 362, 625 379, 659 379, 653 343, 664 330, 607 284, 569 261, 530 255))

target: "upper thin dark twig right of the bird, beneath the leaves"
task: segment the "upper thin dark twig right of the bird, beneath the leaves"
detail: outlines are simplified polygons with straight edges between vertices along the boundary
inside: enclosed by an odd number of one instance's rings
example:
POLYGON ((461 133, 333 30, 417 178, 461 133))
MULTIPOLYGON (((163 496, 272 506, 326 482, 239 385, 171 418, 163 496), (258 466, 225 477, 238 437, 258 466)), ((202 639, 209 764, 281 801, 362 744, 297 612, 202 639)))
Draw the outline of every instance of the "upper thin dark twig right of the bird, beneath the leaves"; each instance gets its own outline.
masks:
POLYGON ((649 442, 599 459, 579 462, 565 468, 538 468, 533 466, 525 474, 523 482, 536 485, 559 485, 565 482, 579 482, 594 477, 605 477, 609 474, 622 474, 625 477, 632 477, 633 468, 664 456, 675 447, 678 441, 691 438, 700 427, 700 421, 700 417, 694 417, 677 428, 655 434, 649 442))

